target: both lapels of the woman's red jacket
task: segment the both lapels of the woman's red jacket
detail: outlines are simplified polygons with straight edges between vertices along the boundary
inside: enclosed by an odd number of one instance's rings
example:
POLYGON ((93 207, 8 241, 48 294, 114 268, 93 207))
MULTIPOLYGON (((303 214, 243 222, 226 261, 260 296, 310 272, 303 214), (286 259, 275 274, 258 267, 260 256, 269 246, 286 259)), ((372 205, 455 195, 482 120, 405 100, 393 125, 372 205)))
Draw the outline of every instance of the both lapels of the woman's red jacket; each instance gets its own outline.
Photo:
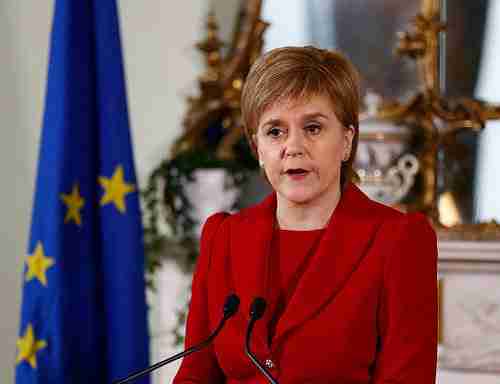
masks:
MULTIPOLYGON (((320 311, 342 289, 378 227, 375 206, 353 184, 346 187, 318 250, 277 324, 275 340, 320 311)), ((264 318, 255 328, 259 347, 263 346, 261 343, 267 345, 267 324, 274 312, 269 261, 275 212, 273 193, 236 215, 239 217, 235 217, 230 235, 231 274, 234 290, 241 299, 241 316, 247 321, 250 303, 256 296, 268 302, 264 318)))

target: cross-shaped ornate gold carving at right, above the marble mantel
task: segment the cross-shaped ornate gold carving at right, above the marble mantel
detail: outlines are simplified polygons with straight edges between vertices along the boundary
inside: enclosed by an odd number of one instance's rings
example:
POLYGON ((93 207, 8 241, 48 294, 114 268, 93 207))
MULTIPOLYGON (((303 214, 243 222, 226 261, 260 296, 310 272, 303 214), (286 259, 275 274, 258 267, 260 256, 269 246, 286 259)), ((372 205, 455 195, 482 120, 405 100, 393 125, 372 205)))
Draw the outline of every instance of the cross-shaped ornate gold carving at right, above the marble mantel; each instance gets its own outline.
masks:
POLYGON ((440 14, 439 0, 423 0, 421 12, 413 21, 413 30, 399 34, 396 51, 416 60, 423 89, 406 103, 382 103, 377 116, 415 127, 424 138, 419 155, 423 192, 410 209, 424 212, 443 237, 500 239, 500 226, 495 222, 454 227, 445 227, 439 222, 436 190, 438 151, 451 150, 448 148, 448 143, 452 142, 450 138, 459 132, 479 132, 487 120, 500 118, 498 105, 469 98, 450 100, 442 95, 439 87, 439 36, 446 31, 446 25, 440 21, 440 14))

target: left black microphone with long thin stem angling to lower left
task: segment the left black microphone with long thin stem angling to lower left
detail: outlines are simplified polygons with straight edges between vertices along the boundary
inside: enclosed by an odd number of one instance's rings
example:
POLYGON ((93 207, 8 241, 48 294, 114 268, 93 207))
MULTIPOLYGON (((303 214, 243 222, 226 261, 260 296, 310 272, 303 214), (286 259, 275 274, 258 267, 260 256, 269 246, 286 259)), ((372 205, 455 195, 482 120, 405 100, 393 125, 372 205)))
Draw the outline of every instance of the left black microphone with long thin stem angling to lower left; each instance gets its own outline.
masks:
POLYGON ((237 295, 235 295, 233 293, 233 294, 227 296, 226 301, 224 302, 223 316, 222 316, 222 319, 221 319, 219 325, 217 326, 217 328, 215 328, 215 330, 204 341, 202 341, 201 343, 196 344, 196 345, 194 345, 194 346, 192 346, 192 347, 190 347, 182 352, 179 352, 176 355, 173 355, 165 360, 162 360, 156 364, 153 364, 148 368, 134 372, 131 375, 129 375, 123 379, 114 381, 113 384, 129 383, 132 380, 135 380, 141 376, 144 376, 144 375, 146 375, 146 374, 148 374, 148 373, 150 373, 150 372, 152 372, 160 367, 163 367, 164 365, 166 365, 168 363, 171 363, 175 360, 180 359, 181 357, 190 355, 193 352, 197 352, 197 351, 207 347, 213 341, 213 339, 215 339, 215 337, 219 334, 219 332, 222 330, 222 327, 224 327, 224 324, 226 324, 226 321, 230 317, 232 317, 236 312, 238 312, 239 305, 240 305, 240 299, 237 295))

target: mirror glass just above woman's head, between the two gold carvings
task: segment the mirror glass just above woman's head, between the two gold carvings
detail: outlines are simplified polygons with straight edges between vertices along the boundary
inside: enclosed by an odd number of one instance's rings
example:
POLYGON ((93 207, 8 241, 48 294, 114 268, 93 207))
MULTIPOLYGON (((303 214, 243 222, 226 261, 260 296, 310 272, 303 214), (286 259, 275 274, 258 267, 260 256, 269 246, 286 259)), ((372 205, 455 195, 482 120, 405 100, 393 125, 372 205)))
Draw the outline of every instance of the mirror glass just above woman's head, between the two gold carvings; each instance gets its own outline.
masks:
POLYGON ((418 86, 414 63, 403 62, 393 52, 396 33, 407 29, 420 0, 292 0, 286 4, 267 1, 263 5, 262 18, 271 24, 265 50, 304 44, 338 49, 362 74, 363 93, 372 90, 384 98, 407 97, 418 86), (298 24, 296 31, 289 19, 298 24))

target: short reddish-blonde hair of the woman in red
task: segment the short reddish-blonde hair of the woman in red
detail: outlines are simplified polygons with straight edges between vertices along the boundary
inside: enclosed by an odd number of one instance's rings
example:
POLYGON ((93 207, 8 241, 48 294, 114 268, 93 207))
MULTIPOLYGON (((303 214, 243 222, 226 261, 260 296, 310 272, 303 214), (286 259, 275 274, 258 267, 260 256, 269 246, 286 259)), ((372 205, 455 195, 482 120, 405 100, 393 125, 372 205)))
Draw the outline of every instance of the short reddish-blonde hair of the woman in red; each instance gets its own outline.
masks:
POLYGON ((359 76, 354 66, 338 52, 307 47, 273 49, 253 64, 241 95, 245 135, 256 154, 253 136, 262 114, 279 102, 307 101, 322 95, 344 127, 354 128, 349 159, 342 163, 341 184, 357 179, 352 168, 359 140, 359 76))

